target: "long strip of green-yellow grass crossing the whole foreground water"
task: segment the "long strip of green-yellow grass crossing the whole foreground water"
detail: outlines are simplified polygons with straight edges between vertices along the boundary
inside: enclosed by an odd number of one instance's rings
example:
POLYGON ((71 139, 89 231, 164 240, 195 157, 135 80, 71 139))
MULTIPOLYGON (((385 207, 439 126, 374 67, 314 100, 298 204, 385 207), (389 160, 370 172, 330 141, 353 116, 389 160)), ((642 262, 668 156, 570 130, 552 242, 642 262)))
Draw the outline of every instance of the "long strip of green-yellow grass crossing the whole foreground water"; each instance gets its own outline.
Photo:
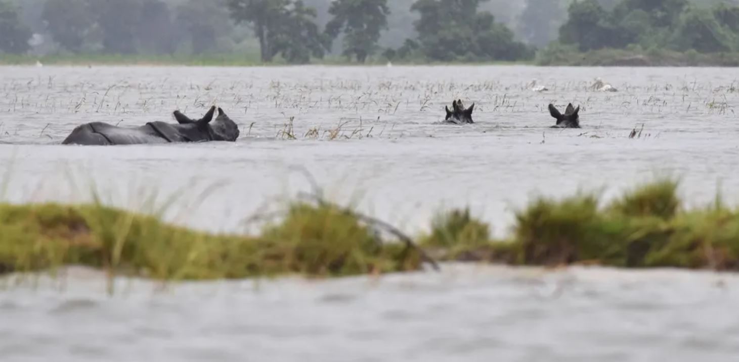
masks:
POLYGON ((739 271, 739 212, 719 198, 686 209, 677 187, 657 181, 607 204, 593 194, 538 198, 516 212, 507 240, 492 240, 491 226, 469 210, 437 215, 429 234, 411 240, 322 202, 293 203, 256 236, 195 232, 99 205, 0 204, 0 271, 74 264, 168 280, 348 276, 415 271, 426 253, 511 265, 739 271), (383 231, 401 243, 381 237, 383 231))

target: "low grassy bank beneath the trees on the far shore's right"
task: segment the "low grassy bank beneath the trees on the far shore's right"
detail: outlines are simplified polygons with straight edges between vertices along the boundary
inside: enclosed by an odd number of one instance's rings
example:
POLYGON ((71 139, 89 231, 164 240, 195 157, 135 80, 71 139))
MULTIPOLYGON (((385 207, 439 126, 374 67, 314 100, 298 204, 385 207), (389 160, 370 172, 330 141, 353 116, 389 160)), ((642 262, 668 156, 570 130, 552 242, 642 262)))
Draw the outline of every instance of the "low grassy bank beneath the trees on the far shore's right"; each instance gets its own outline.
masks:
POLYGON ((739 66, 739 52, 675 52, 668 49, 599 49, 579 52, 552 45, 537 54, 539 66, 739 66))

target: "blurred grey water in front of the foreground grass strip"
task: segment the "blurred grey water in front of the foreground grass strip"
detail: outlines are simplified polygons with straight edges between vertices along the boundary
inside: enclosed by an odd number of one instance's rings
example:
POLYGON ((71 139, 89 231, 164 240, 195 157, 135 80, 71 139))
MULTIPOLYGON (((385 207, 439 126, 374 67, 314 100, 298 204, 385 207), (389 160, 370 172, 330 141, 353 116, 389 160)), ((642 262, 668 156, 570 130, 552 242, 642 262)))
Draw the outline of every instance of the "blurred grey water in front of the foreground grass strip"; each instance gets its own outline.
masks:
POLYGON ((3 361, 688 362, 739 354, 733 274, 444 265, 440 274, 380 280, 166 288, 119 279, 112 297, 103 275, 84 269, 27 282, 0 293, 3 361))

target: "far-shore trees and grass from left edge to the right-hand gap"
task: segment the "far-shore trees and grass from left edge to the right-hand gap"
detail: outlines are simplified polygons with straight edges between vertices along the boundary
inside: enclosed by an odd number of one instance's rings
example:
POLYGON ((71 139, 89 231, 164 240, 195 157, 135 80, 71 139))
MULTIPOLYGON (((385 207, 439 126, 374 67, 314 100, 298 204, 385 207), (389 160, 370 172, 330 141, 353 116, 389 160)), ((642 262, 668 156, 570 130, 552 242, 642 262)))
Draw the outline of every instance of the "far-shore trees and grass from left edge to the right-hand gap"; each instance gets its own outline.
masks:
POLYGON ((398 46, 408 39, 399 52, 414 60, 531 58, 531 49, 514 41, 511 29, 478 11, 483 2, 460 7, 448 0, 0 0, 0 29, 7 29, 4 41, 12 43, 0 43, 0 52, 33 59, 118 55, 123 63, 141 55, 177 60, 212 52, 254 63, 310 63, 331 53, 364 63, 371 56, 398 58, 398 46), (460 36, 475 39, 460 42, 460 36))

